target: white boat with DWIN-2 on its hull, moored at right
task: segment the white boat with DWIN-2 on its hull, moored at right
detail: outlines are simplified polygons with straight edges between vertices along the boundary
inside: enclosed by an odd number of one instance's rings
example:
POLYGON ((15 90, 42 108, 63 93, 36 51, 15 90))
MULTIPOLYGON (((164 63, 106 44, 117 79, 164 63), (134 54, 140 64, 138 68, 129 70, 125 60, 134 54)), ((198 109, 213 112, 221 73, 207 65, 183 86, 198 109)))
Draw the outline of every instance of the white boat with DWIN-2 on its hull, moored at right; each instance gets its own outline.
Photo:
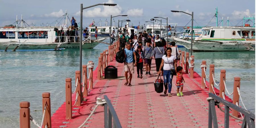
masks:
MULTIPOLYGON (((172 36, 172 39, 191 49, 189 38, 172 36)), ((254 51, 255 27, 216 26, 204 27, 203 32, 193 41, 193 49, 197 51, 254 51)))

